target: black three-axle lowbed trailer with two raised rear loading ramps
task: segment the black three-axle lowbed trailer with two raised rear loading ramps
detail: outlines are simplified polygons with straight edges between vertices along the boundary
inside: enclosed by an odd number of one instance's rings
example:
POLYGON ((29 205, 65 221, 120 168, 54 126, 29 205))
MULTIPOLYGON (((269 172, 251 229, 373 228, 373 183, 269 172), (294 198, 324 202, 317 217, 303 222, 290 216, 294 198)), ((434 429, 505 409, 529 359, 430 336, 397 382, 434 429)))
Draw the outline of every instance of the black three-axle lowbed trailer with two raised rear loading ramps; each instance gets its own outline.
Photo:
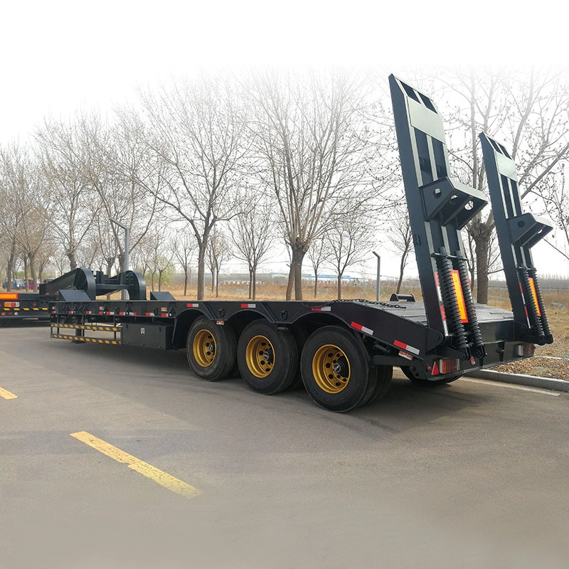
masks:
POLYGON ((442 119, 429 97, 390 76, 422 302, 179 301, 151 292, 142 275, 75 270, 46 285, 51 337, 159 349, 186 349, 193 373, 236 375, 272 394, 302 381, 315 403, 345 412, 381 398, 393 366, 410 380, 440 385, 463 373, 533 356, 553 341, 531 259, 549 230, 521 211, 514 161, 481 135, 512 311, 475 304, 461 230, 486 205, 452 179, 442 119), (97 299, 127 290, 128 300, 97 299))

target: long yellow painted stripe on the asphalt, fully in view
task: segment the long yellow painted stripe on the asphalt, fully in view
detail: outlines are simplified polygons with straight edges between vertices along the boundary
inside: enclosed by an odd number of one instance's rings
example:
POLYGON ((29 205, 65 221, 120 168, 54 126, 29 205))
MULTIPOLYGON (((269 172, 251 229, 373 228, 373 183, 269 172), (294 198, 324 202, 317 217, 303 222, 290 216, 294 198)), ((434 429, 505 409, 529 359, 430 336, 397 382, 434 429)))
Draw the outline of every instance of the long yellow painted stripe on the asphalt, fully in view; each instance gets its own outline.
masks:
POLYGON ((186 484, 180 479, 174 478, 170 474, 166 474, 162 470, 153 467, 151 464, 147 462, 143 462, 137 457, 133 457, 132 454, 128 454, 117 447, 113 447, 108 442, 101 440, 93 435, 90 435, 88 432, 80 431, 80 432, 72 432, 72 437, 75 437, 77 440, 81 442, 85 442, 85 445, 89 445, 90 447, 102 452, 102 454, 106 454, 107 457, 110 457, 117 462, 122 462, 123 464, 127 464, 127 466, 142 474, 143 476, 154 480, 164 488, 167 488, 176 494, 181 494, 184 498, 195 498, 201 494, 201 490, 198 490, 194 486, 190 484, 186 484))

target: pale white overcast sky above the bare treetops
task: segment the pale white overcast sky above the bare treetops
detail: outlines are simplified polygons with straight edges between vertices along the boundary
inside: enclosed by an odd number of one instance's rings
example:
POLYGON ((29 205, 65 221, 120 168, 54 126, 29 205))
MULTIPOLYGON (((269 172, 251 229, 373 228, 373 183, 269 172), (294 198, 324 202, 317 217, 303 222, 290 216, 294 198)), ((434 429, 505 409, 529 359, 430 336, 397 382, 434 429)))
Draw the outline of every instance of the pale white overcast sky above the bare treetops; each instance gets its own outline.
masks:
POLYGON ((213 65, 381 64, 402 77, 407 65, 569 65, 560 4, 508 4, 3 2, 0 144, 25 141, 46 115, 104 111, 137 83, 213 65))

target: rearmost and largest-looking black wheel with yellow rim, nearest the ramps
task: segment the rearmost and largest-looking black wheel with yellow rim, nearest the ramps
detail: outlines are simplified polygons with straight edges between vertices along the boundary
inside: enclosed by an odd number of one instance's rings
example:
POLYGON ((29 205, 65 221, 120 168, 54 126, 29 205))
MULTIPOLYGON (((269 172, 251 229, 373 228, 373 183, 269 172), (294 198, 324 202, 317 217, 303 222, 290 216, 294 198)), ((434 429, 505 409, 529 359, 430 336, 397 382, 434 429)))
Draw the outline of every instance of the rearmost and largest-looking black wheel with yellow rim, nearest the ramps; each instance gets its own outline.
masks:
POLYGON ((376 386, 376 371, 363 342, 339 326, 324 326, 309 336, 300 371, 314 403, 334 413, 358 407, 376 386))

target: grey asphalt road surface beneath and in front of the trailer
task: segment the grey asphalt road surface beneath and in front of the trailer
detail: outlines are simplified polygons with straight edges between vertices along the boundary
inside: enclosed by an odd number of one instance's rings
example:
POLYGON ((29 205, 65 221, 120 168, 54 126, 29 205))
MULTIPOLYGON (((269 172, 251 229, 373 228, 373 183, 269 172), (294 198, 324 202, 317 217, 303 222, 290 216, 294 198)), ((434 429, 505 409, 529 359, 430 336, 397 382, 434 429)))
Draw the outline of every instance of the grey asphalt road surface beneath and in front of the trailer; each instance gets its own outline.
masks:
POLYGON ((566 393, 401 378, 336 415, 46 326, 0 357, 1 569, 568 566, 566 393))

